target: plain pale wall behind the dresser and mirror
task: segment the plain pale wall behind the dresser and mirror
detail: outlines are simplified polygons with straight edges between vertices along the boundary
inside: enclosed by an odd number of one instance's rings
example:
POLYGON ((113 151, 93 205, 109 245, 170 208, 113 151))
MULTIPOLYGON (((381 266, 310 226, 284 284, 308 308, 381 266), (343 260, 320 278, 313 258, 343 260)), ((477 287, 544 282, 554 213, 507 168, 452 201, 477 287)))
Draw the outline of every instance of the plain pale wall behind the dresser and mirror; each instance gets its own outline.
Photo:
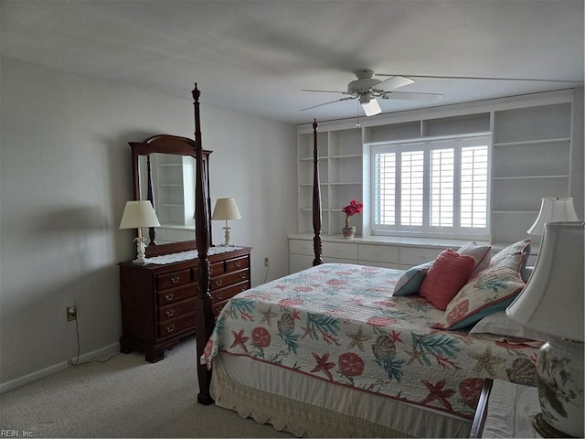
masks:
MULTIPOLYGON (((193 136, 185 99, 2 59, 0 95, 0 390, 117 349, 122 332, 117 262, 135 253, 118 230, 133 196, 129 141, 193 136)), ((194 78, 197 80, 197 78, 194 78)), ((202 91, 211 197, 234 197, 235 244, 250 245, 252 284, 288 273, 296 230, 292 125, 214 108, 202 91)), ((214 221, 214 242, 223 240, 214 221)))

